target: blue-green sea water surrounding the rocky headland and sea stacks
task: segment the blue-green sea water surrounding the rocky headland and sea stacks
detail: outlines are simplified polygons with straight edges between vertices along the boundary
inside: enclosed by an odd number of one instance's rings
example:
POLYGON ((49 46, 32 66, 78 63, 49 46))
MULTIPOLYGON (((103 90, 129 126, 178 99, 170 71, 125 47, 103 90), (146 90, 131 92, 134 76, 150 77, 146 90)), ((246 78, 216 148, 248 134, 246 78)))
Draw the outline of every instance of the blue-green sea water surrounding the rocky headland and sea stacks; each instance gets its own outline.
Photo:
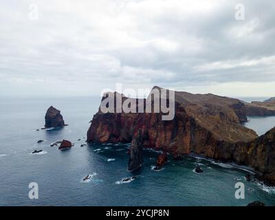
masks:
MULTIPOLYGON (((157 152, 144 152, 144 166, 132 181, 127 144, 86 144, 89 121, 100 97, 0 99, 0 206, 246 206, 259 200, 275 204, 275 188, 245 181, 247 171, 195 156, 153 170, 157 152), (39 130, 45 111, 61 110, 63 129, 39 130), (50 144, 67 139, 75 145, 59 151, 50 144), (38 144, 38 140, 45 140, 38 144), (39 154, 31 154, 42 149, 39 154), (201 164, 203 173, 195 173, 201 164), (83 177, 91 175, 90 181, 83 177), (236 182, 245 184, 245 199, 234 197, 236 182), (39 186, 30 199, 29 184, 39 186)), ((275 126, 275 118, 249 118, 245 124, 259 135, 275 126)))

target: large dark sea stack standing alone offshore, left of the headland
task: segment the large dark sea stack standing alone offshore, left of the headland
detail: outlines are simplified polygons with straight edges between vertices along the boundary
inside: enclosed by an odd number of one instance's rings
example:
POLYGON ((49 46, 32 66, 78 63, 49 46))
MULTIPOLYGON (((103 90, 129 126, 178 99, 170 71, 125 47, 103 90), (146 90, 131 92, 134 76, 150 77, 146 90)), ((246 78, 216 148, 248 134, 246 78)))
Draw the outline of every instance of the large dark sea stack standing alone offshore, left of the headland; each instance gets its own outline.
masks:
POLYGON ((65 122, 63 120, 63 116, 61 115, 61 111, 52 106, 47 109, 47 113, 45 115, 45 128, 56 128, 63 126, 65 126, 65 122))

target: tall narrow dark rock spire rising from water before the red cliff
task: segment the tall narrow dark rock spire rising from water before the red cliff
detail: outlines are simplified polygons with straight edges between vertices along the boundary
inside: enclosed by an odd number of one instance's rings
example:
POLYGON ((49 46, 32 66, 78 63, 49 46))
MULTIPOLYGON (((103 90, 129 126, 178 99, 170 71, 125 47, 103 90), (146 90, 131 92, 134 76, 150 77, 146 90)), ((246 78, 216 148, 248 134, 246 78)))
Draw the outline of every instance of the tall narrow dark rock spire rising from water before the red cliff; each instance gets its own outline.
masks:
POLYGON ((130 147, 130 156, 128 163, 128 170, 135 171, 142 166, 143 157, 143 147, 142 147, 142 132, 139 130, 136 137, 133 138, 130 147))

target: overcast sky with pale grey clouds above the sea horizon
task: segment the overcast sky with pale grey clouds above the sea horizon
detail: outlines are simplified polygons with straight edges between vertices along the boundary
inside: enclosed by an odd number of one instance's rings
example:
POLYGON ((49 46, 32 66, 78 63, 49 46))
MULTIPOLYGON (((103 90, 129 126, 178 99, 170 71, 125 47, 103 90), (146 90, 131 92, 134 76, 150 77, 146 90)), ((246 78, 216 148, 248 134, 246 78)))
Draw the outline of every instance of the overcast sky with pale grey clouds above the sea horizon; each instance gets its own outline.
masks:
POLYGON ((1 0, 0 96, 100 96, 116 83, 275 96, 274 12, 272 0, 1 0))

